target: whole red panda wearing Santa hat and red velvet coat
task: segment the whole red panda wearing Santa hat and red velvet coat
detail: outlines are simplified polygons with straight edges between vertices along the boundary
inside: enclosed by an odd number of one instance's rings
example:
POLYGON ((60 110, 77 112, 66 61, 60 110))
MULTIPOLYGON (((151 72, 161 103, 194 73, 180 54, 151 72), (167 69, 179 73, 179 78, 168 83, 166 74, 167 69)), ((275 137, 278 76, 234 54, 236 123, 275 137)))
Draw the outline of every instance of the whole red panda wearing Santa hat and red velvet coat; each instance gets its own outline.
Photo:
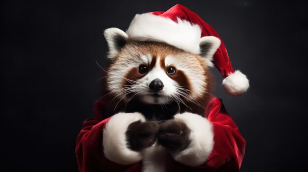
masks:
POLYGON ((95 118, 78 135, 80 171, 240 169, 246 142, 221 100, 211 98, 210 67, 232 96, 244 94, 249 81, 233 70, 213 27, 177 4, 137 14, 126 32, 109 28, 104 36, 111 64, 95 118))

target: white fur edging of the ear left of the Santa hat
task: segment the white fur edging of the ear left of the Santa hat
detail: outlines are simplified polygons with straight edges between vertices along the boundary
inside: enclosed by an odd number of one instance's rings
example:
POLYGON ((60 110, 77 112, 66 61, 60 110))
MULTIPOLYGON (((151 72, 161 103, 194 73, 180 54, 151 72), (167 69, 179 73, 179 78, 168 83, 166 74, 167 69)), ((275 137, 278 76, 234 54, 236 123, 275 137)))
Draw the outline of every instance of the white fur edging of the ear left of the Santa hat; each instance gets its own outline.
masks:
POLYGON ((119 49, 116 45, 115 38, 117 36, 122 36, 123 38, 127 39, 128 36, 123 30, 115 27, 106 29, 104 31, 104 36, 109 48, 108 58, 113 59, 119 53, 119 49))

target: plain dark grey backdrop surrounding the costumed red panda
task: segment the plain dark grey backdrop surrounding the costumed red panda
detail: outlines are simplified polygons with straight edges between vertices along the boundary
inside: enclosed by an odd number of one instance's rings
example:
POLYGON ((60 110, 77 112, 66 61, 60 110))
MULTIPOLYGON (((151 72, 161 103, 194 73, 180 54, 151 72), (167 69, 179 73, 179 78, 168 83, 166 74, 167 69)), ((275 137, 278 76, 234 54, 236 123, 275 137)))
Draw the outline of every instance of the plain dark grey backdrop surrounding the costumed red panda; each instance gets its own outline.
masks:
POLYGON ((136 13, 187 6, 222 37, 250 80, 223 99, 246 138, 241 172, 307 171, 308 4, 269 0, 1 1, 1 172, 77 171, 76 136, 93 116, 105 66, 103 29, 136 13))

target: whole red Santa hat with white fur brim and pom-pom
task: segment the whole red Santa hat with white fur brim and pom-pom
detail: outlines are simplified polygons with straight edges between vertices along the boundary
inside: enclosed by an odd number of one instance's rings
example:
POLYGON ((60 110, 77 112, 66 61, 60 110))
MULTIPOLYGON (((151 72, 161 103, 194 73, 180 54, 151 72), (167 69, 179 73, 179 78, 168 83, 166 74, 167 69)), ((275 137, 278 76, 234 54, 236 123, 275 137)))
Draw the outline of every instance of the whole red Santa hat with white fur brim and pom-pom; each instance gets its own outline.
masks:
POLYGON ((185 51, 200 54, 200 39, 215 36, 220 46, 211 58, 224 77, 222 85, 232 96, 246 93, 249 81, 245 74, 233 70, 227 49, 218 33, 196 13, 177 4, 166 12, 137 14, 127 29, 128 38, 139 41, 165 42, 185 51))

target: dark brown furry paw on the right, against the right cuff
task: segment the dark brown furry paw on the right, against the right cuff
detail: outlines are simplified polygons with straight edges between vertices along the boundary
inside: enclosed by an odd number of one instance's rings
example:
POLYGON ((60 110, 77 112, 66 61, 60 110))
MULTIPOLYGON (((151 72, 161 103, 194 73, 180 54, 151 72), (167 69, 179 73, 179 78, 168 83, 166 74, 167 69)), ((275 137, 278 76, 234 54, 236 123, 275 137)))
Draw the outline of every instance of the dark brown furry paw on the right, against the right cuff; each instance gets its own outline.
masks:
POLYGON ((185 125, 175 120, 167 120, 160 124, 158 130, 158 144, 168 148, 171 151, 182 151, 190 144, 189 139, 190 129, 185 125))

